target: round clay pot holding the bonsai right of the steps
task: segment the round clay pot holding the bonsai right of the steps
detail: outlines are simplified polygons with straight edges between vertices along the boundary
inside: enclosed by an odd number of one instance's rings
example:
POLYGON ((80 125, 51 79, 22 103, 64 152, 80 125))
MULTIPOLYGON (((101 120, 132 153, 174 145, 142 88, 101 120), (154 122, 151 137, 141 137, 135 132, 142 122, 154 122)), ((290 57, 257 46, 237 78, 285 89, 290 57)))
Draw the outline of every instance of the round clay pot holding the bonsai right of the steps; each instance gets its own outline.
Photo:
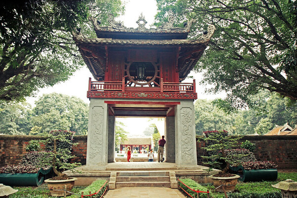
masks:
MULTIPOLYGON (((209 178, 213 182, 213 186, 215 188, 223 185, 225 192, 228 193, 234 192, 237 179, 240 178, 240 176, 234 175, 233 177, 214 177, 213 175, 210 175, 209 178)), ((216 191, 221 193, 224 192, 222 187, 217 188, 216 191)))

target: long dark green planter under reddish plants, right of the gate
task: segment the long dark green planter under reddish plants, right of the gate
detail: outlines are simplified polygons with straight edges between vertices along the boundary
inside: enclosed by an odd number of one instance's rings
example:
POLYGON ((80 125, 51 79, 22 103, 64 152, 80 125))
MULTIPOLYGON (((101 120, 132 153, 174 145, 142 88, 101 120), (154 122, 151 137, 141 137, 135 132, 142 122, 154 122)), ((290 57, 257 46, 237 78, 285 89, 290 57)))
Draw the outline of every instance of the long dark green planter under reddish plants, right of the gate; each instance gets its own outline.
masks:
POLYGON ((246 170, 243 166, 230 167, 232 173, 240 176, 242 182, 274 181, 277 179, 277 169, 246 170))

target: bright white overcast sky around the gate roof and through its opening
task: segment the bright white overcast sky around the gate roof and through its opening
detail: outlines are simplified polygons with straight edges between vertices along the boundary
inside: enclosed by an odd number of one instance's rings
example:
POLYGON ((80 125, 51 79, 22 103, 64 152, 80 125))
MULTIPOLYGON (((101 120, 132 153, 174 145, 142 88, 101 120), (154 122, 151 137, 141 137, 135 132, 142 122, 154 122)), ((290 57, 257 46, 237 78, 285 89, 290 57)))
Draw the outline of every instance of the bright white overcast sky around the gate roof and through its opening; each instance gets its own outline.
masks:
MULTIPOLYGON (((124 0, 123 0, 124 1, 124 0)), ((154 15, 157 13, 157 6, 155 0, 125 0, 126 1, 126 11, 125 14, 117 17, 116 21, 121 21, 126 27, 137 28, 138 25, 136 21, 138 17, 143 13, 145 19, 147 20, 147 28, 150 28, 150 25, 153 23, 154 15)), ((189 76, 194 76, 196 79, 196 92, 198 99, 215 99, 215 98, 224 98, 225 93, 212 95, 205 94, 204 87, 199 85, 202 77, 201 74, 191 72, 189 76)), ((69 96, 76 96, 82 99, 86 103, 90 103, 90 100, 87 98, 87 90, 89 84, 89 78, 94 80, 91 72, 87 68, 87 65, 83 65, 82 68, 74 73, 73 76, 70 76, 69 79, 65 82, 54 85, 53 87, 40 89, 35 97, 27 98, 27 101, 34 106, 34 102, 41 97, 43 94, 50 94, 53 92, 61 93, 69 96)), ((186 79, 184 82, 193 82, 193 79, 186 79)), ((142 131, 145 130, 151 122, 148 122, 148 118, 117 118, 118 121, 125 123, 126 131, 130 135, 142 134, 142 131), (138 125, 136 125, 136 123, 138 125)), ((162 126, 165 126, 165 123, 159 123, 155 121, 159 126, 160 130, 163 130, 162 126)), ((163 132, 160 132, 163 134, 163 132)))

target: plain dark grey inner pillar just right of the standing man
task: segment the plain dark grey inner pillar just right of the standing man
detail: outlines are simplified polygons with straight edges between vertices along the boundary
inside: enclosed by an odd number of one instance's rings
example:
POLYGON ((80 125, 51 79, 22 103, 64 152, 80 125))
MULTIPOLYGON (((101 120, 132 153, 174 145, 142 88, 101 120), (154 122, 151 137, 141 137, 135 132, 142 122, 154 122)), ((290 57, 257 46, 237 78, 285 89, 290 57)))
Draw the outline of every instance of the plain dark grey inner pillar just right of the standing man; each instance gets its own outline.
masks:
POLYGON ((174 116, 166 117, 166 162, 175 163, 175 124, 174 124, 174 116))

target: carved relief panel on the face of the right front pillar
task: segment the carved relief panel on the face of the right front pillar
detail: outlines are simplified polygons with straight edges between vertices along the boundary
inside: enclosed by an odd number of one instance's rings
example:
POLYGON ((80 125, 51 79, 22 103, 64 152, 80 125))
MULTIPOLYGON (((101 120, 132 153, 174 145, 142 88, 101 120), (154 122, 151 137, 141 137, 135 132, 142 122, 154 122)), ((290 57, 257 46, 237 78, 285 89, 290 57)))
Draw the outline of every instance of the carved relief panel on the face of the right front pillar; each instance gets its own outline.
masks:
POLYGON ((182 107, 181 108, 181 119, 182 119, 182 159, 183 162, 189 163, 193 161, 194 153, 194 132, 193 132, 193 114, 192 108, 182 107))

